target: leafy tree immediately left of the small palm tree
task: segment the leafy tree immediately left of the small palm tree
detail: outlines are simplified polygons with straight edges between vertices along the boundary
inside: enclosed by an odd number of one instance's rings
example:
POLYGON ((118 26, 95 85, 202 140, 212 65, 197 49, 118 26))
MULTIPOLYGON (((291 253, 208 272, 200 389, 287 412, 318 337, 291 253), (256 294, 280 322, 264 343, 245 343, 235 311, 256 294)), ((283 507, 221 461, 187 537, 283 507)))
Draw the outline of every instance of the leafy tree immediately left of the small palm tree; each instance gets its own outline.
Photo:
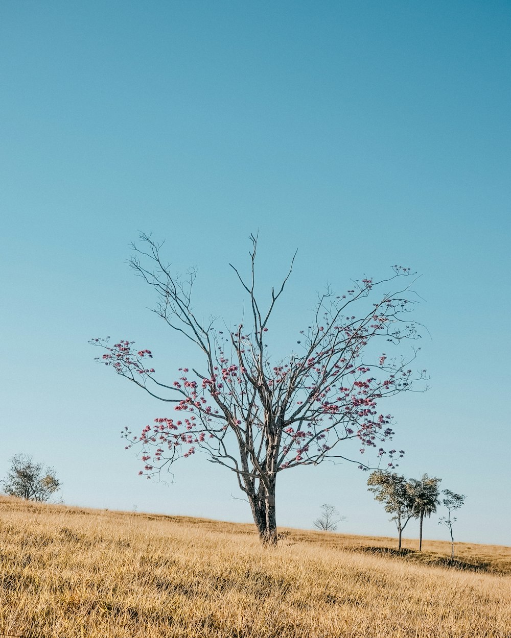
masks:
POLYGON ((385 503, 385 512, 392 514, 399 534, 398 549, 401 550, 402 531, 408 521, 416 516, 415 486, 400 474, 375 470, 367 480, 368 489, 374 498, 385 503))

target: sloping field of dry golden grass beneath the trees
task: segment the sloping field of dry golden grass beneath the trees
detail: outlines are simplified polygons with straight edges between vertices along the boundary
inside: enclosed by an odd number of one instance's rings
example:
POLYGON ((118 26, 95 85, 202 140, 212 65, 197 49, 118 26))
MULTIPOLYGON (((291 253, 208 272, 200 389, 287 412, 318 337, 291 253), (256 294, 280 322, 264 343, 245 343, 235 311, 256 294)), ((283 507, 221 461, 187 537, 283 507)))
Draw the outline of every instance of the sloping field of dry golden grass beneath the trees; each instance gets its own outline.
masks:
POLYGON ((0 634, 511 636, 511 547, 283 530, 0 497, 0 634))

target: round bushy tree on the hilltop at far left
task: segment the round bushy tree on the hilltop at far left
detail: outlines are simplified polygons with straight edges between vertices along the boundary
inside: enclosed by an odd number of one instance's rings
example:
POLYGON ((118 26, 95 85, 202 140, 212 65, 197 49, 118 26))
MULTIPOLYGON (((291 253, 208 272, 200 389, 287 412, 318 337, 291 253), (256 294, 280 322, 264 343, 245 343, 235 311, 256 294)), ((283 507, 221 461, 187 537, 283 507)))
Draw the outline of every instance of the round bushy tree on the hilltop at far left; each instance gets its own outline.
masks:
POLYGON ((2 482, 3 489, 9 496, 44 502, 61 487, 54 468, 34 463, 31 456, 15 454, 10 463, 10 470, 2 482))

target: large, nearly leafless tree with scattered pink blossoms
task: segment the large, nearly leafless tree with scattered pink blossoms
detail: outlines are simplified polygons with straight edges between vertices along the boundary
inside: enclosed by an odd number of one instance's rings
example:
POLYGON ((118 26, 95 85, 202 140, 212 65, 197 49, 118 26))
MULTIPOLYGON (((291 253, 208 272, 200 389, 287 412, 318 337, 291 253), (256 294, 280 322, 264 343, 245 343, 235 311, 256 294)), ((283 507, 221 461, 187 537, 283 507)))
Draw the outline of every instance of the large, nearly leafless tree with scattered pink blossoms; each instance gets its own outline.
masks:
POLYGON ((294 257, 264 304, 255 293, 257 237, 250 239, 248 278, 231 267, 247 294, 251 325, 238 323, 227 335, 215 328, 214 320, 197 318, 192 304, 195 270, 174 276, 160 255, 162 244, 148 235, 132 246, 131 267, 158 297, 154 312, 197 346, 203 359, 199 369, 181 367, 176 381, 162 382, 148 363, 153 355, 147 348, 136 348, 126 339, 111 344, 109 338, 96 338, 91 343, 105 351, 98 360, 156 399, 174 403, 178 412, 156 418, 139 436, 131 436, 127 427, 123 431, 127 447, 141 445, 144 471, 139 474, 152 475, 196 450, 205 452, 212 463, 234 472, 261 540, 276 544, 278 473, 327 458, 352 461, 336 454, 350 439, 358 441, 361 452, 376 448, 380 460, 388 454, 392 466, 402 452, 379 447, 393 431, 391 415, 379 413, 377 403, 411 389, 424 371, 414 375, 409 367, 416 356, 413 348, 409 357, 391 357, 377 349, 379 341, 387 350, 403 339, 418 338, 409 320, 410 283, 400 285, 411 273, 398 266, 388 279, 365 278, 344 295, 330 290, 320 295, 296 347, 286 358, 272 360, 266 333, 294 257), (390 292, 392 286, 396 292, 390 292), (379 295, 378 289, 383 289, 379 295), (362 306, 358 316, 355 306, 362 306))

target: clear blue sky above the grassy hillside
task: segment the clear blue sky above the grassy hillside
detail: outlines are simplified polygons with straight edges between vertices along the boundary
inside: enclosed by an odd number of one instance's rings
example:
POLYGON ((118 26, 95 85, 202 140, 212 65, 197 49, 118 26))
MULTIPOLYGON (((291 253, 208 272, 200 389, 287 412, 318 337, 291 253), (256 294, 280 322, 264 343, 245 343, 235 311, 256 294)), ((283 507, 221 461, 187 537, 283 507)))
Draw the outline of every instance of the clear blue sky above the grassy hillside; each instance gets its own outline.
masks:
MULTIPOLYGON (((422 274, 431 389, 385 404, 399 469, 466 494, 457 538, 511 544, 510 27, 493 0, 0 1, 0 475, 26 452, 66 503, 250 521, 198 455, 171 486, 137 476, 119 431, 167 407, 87 341, 133 339, 172 375, 195 355, 149 312, 130 242, 165 239, 197 308, 236 323, 228 263, 259 228, 261 293, 298 248, 277 337, 327 282, 422 274)), ((278 524, 332 503, 340 531, 395 533, 355 466, 280 477, 278 524)))

